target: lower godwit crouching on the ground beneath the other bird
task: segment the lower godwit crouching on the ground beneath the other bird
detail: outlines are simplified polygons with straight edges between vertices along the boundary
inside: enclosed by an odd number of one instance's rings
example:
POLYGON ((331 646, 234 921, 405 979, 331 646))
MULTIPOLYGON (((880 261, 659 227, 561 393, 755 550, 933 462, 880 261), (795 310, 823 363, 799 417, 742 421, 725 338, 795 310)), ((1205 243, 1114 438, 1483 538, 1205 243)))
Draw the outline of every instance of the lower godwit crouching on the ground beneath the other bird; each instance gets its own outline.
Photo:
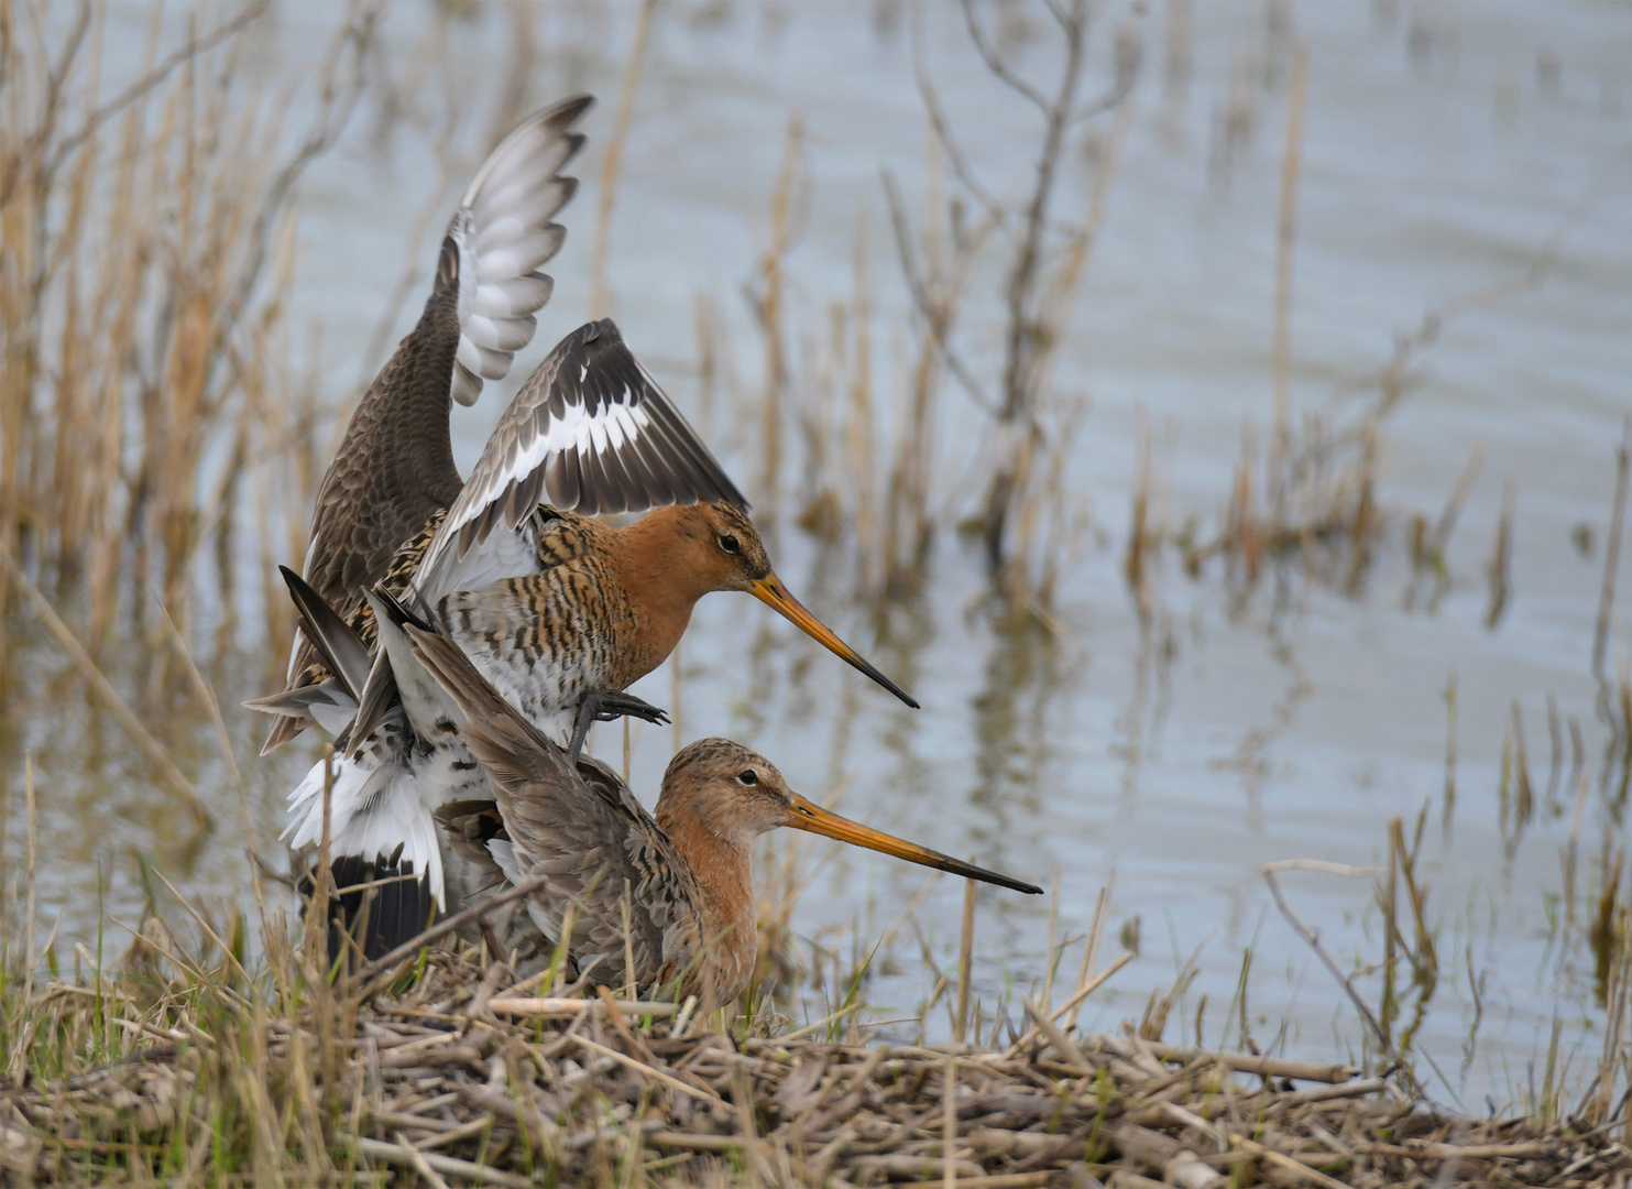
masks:
MULTIPOLYGON (((488 773, 503 823, 483 839, 488 853, 511 884, 548 875, 527 911, 547 937, 565 939, 579 973, 602 972, 597 982, 614 982, 632 964, 636 988, 705 993, 715 1003, 741 995, 757 946, 749 846, 777 826, 1017 892, 1043 890, 824 810, 793 792, 769 759, 726 738, 674 756, 653 818, 604 764, 568 764, 455 643, 406 630, 459 706, 459 732, 488 773)), ((444 820, 473 812, 467 804, 444 820)))

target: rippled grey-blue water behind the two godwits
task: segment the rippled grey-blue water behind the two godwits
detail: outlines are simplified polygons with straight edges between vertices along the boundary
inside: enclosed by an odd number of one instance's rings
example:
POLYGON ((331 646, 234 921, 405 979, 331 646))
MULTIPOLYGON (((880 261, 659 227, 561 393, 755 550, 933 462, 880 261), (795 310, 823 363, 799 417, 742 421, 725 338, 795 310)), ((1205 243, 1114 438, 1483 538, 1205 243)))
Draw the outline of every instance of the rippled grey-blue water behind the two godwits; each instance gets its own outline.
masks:
MULTIPOLYGON (((1439 978, 1417 1045, 1444 1075, 1425 1073, 1435 1094, 1501 1101, 1526 1083, 1552 1019, 1565 1024, 1567 1050, 1583 1045, 1588 1057, 1596 1053, 1591 1029, 1601 1013, 1586 921, 1601 892, 1594 864, 1624 843, 1614 764, 1601 779, 1608 735, 1590 660, 1614 446, 1632 408, 1632 18, 1608 5, 1289 10, 1310 62, 1293 291, 1299 415, 1342 416, 1355 399, 1333 392, 1379 367, 1397 332, 1451 299, 1523 276, 1549 245, 1557 255, 1536 287, 1448 320, 1417 359, 1425 382, 1386 425, 1379 503, 1392 519, 1361 590, 1310 581, 1293 562, 1235 598, 1219 563, 1190 578, 1169 559, 1154 580, 1154 612, 1141 622, 1121 573, 1139 418, 1157 443, 1167 519, 1193 514, 1203 526, 1222 514, 1244 428, 1257 426, 1262 439, 1268 423, 1286 60, 1270 15, 1281 11, 1208 3, 1152 5, 1144 15, 1138 109, 1061 363, 1062 384, 1092 402, 1071 485, 1090 500, 1093 528, 1059 593, 1058 639, 1004 632, 979 614, 979 559, 951 534, 940 539, 927 593, 880 619, 850 598, 852 555, 785 524, 775 537, 783 578, 924 709, 894 704, 733 596, 698 608, 677 686, 664 666, 636 692, 676 707, 687 738, 730 733, 761 748, 806 794, 842 786, 840 808, 854 817, 1041 882, 1058 875, 1051 898, 982 892, 976 980, 987 1013, 1010 988, 1018 996, 1040 978, 1049 908, 1061 939, 1080 936, 1110 882, 1106 955, 1118 936, 1138 936, 1139 957, 1095 998, 1087 1022, 1138 1016, 1151 990, 1169 986, 1195 955, 1170 1035, 1195 1035, 1200 1019, 1204 1039, 1234 1037, 1245 1014, 1263 1045, 1283 1042, 1310 1057, 1355 1052, 1353 1008, 1276 913, 1260 867, 1283 859, 1374 867, 1386 861, 1387 820, 1404 817, 1410 838, 1426 807, 1418 875, 1439 978), (1193 18, 1188 73, 1172 33, 1185 11, 1193 18), (1237 126, 1255 127, 1226 152, 1232 75, 1247 96, 1237 100, 1237 126), (1449 585, 1431 599, 1431 583, 1407 563, 1404 519, 1410 511, 1438 518, 1474 451, 1482 470, 1451 537, 1449 585), (1505 483, 1516 510, 1513 591, 1487 629, 1483 565, 1505 483), (1452 683, 1454 804, 1446 794, 1452 683), (1549 699, 1563 740, 1557 773, 1549 699), (1511 766, 1503 777, 1514 714, 1536 797, 1528 822, 1519 822, 1511 766), (1573 766, 1572 724, 1583 774, 1573 766), (1560 856, 1577 822, 1572 902, 1560 856), (1248 949, 1242 1013, 1235 988, 1248 949), (1466 1047, 1470 1032, 1477 1049, 1466 1047)), ((571 234, 553 269, 557 297, 522 364, 586 317, 594 180, 633 15, 550 13, 537 33, 557 49, 540 57, 532 98, 588 87, 602 106, 588 127, 586 186, 568 209, 571 234)), ((676 5, 658 16, 617 193, 615 317, 743 477, 757 475, 759 462, 733 434, 730 405, 698 407, 692 301, 716 296, 736 369, 756 385, 762 348, 738 291, 770 235, 769 196, 793 113, 805 121, 809 185, 800 191, 803 234, 788 258, 790 327, 816 333, 826 305, 849 297, 855 225, 865 219, 878 390, 894 382, 906 299, 880 170, 896 173, 909 201, 920 203, 925 129, 912 77, 914 18, 901 13, 893 24, 891 13, 676 5)), ((1102 51, 1126 16, 1115 7, 1103 15, 1102 51)), ((286 7, 276 20, 276 52, 261 65, 269 77, 328 18, 286 7)), ((395 10, 388 44, 406 60, 432 20, 432 10, 395 10)), ((922 24, 925 62, 971 160, 996 189, 1017 193, 1033 113, 982 75, 955 11, 930 10, 922 24)), ((1044 33, 1041 24, 1033 31, 1044 33)), ((483 8, 449 26, 450 85, 490 101, 508 36, 503 15, 483 8)), ((1046 67, 1046 44, 1020 52, 1046 67)), ((429 103, 442 85, 432 70, 408 100, 429 103)), ((369 341, 403 268, 408 229, 437 193, 423 137, 398 131, 380 142, 366 132, 359 124, 304 193, 297 320, 322 323, 336 394, 374 364, 369 341)), ((480 145, 470 154, 475 160, 480 145)), ((1074 152, 1069 171, 1067 203, 1075 203, 1090 163, 1074 152)), ((454 181, 442 188, 444 206, 454 181)), ((432 258, 432 235, 415 248, 416 260, 432 258)), ((992 281, 982 281, 968 315, 966 341, 984 353, 984 374, 997 340, 992 281)), ((410 318, 398 318, 398 333, 410 318)), ((457 413, 465 465, 506 395, 490 390, 478 408, 457 413)), ((955 410, 951 492, 982 423, 956 390, 947 402, 955 410)), ((1611 658, 1621 665, 1624 593, 1616 606, 1611 658)), ((41 688, 47 679, 73 688, 54 653, 31 652, 28 663, 41 688)), ((137 666, 132 660, 132 691, 142 689, 137 666)), ((224 701, 256 692, 253 670, 242 661, 215 676, 224 701)), ((281 789, 307 759, 255 759, 259 725, 240 714, 228 724, 250 782, 248 818, 271 838, 281 789)), ((178 843, 184 823, 155 810, 150 779, 111 724, 65 710, 13 724, 8 753, 24 741, 39 750, 47 921, 65 905, 65 929, 78 936, 93 926, 98 885, 88 872, 98 862, 108 911, 137 911, 132 853, 153 856, 194 892, 243 890, 235 831, 186 853, 178 843)), ((212 738, 181 730, 175 743, 196 755, 201 787, 225 787, 212 738)), ((636 733, 635 784, 648 800, 671 748, 669 732, 636 733)), ((602 733, 599 750, 615 756, 617 737, 602 733)), ((20 764, 8 773, 20 784, 20 764)), ((235 817, 224 804, 224 822, 235 817)), ((916 869, 832 854, 796 924, 849 960, 852 941, 840 933, 857 923, 865 955, 920 884, 916 869)), ((1283 885, 1340 964, 1382 960, 1369 879, 1296 872, 1283 885)), ((889 1016, 916 1014, 932 982, 919 937, 937 964, 955 965, 961 897, 953 880, 935 885, 917 911, 920 933, 906 926, 875 965, 867 995, 889 1016)), ((1067 982, 1077 960, 1067 954, 1067 982)), ((1373 972, 1356 988, 1376 1003, 1381 977, 1373 972)))

